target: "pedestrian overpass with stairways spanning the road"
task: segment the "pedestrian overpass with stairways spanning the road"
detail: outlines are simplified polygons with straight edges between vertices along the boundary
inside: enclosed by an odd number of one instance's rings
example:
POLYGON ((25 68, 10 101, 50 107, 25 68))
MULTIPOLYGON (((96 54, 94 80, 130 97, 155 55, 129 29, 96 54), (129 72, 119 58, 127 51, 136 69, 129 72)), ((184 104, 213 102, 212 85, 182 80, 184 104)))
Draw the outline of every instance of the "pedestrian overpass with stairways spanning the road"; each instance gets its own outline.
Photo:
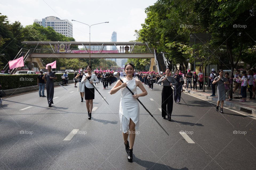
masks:
MULTIPOLYGON (((150 71, 160 72, 161 62, 163 62, 161 67, 166 68, 165 57, 160 55, 163 61, 158 61, 158 54, 154 48, 149 48, 147 42, 22 41, 22 44, 31 45, 34 48, 22 48, 13 60, 23 56, 24 62, 30 63, 30 68, 34 65, 38 69, 45 68, 43 58, 151 58, 150 71), (74 46, 83 48, 73 48, 74 46)), ((4 70, 8 68, 7 64, 4 70)), ((11 74, 17 69, 11 70, 11 74)))

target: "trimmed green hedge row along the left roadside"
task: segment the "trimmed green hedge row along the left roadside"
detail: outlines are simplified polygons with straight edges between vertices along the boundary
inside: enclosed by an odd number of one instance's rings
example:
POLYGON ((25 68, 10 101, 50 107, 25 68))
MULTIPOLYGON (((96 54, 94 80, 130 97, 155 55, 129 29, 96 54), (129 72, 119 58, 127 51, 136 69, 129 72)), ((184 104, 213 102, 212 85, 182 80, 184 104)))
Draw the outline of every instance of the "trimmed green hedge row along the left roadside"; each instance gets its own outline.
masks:
MULTIPOLYGON (((20 88, 20 87, 28 87, 37 85, 37 77, 40 74, 6 74, 0 75, 0 82, 3 90, 20 88)), ((61 82, 61 76, 63 74, 55 74, 57 77, 57 82, 61 82)), ((69 80, 73 80, 74 73, 68 74, 69 80)))

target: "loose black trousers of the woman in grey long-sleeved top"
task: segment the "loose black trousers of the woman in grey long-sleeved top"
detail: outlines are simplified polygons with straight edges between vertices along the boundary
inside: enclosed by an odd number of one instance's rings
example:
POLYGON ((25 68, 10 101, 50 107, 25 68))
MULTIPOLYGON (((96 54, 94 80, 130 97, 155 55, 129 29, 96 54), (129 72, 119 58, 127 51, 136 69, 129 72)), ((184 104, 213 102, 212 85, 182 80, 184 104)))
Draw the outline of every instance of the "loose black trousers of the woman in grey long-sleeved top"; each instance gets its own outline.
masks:
POLYGON ((173 89, 171 86, 163 86, 162 90, 162 117, 167 115, 168 120, 171 119, 173 112, 173 89), (166 110, 167 105, 167 110, 166 110))

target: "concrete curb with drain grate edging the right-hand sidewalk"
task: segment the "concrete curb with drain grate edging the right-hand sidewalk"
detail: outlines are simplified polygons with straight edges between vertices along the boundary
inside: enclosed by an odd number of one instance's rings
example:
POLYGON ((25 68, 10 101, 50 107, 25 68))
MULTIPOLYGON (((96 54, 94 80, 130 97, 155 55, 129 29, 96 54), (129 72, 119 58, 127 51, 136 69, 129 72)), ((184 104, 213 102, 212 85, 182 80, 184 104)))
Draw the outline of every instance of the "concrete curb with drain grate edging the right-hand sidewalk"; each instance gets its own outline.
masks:
MULTIPOLYGON (((195 92, 195 91, 191 91, 191 90, 188 90, 188 91, 190 92, 191 95, 197 96, 201 99, 206 99, 206 100, 209 100, 209 101, 213 101, 214 103, 217 103, 217 101, 218 101, 217 97, 210 97, 206 93, 195 92)), ((184 88, 183 88, 183 92, 188 93, 184 88)), ((244 114, 256 117, 256 109, 246 107, 246 106, 237 105, 237 104, 229 102, 227 100, 224 101, 224 106, 227 107, 227 108, 230 108, 230 109, 234 109, 234 110, 239 111, 239 112, 243 111, 244 114), (251 114, 248 113, 248 112, 251 112, 251 114)))

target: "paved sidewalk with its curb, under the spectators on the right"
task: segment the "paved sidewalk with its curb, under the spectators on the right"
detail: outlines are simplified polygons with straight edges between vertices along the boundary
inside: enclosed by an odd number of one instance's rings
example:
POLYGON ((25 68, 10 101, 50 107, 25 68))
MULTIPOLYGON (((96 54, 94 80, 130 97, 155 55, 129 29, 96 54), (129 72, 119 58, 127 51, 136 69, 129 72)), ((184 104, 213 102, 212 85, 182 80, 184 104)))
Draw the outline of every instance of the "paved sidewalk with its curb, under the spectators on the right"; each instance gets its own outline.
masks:
MULTIPOLYGON (((207 86, 205 86, 205 89, 207 88, 207 86)), ((193 89, 193 86, 192 86, 193 89)), ((210 96, 212 94, 211 90, 205 90, 205 92, 203 92, 203 90, 199 90, 199 87, 197 89, 197 91, 193 91, 187 89, 189 91, 189 93, 193 96, 202 98, 202 99, 206 99, 209 101, 213 101, 214 103, 217 104, 218 101, 218 94, 217 94, 217 88, 216 88, 216 96, 210 96)), ((188 93, 185 89, 185 87, 183 87, 183 92, 188 93)), ((250 97, 249 91, 246 91, 247 94, 247 99, 250 97)), ((246 102, 239 102, 239 97, 241 97, 242 99, 242 95, 239 95, 238 90, 235 92, 235 94, 233 94, 233 100, 229 101, 229 97, 226 95, 226 100, 224 101, 224 107, 230 108, 232 110, 236 110, 236 111, 242 111, 244 114, 247 114, 249 116, 253 116, 256 117, 256 100, 252 99, 252 100, 246 100, 246 102)))

